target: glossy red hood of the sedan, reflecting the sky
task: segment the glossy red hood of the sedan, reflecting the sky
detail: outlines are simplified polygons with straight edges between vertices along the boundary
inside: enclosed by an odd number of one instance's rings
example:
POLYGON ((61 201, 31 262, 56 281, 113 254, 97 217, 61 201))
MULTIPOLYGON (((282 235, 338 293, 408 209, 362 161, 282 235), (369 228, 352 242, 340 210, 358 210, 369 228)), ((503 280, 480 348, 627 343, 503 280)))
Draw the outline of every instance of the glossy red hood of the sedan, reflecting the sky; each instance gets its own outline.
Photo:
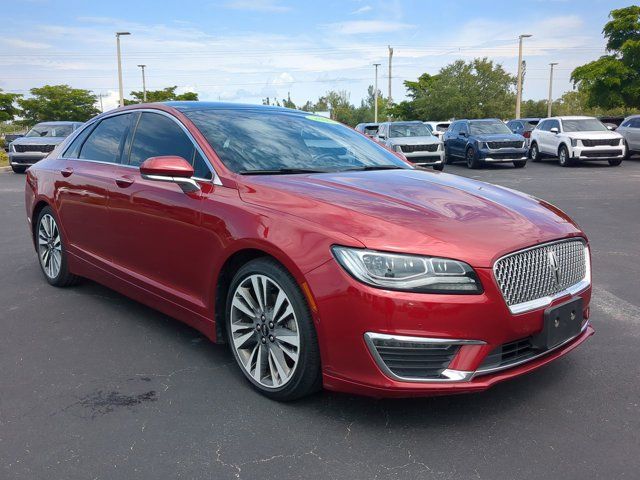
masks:
POLYGON ((248 203, 304 218, 367 248, 490 267, 505 253, 581 235, 552 205, 503 187, 420 170, 243 177, 248 203))

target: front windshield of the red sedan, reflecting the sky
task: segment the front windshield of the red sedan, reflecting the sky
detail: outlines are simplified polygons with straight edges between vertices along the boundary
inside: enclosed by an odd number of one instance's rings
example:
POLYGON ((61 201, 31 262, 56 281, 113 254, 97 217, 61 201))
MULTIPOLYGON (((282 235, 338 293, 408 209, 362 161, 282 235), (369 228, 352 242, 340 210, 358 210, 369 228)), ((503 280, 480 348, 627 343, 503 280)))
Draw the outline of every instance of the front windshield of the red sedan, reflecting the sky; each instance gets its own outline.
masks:
POLYGON ((316 115, 248 109, 185 110, 184 114, 236 173, 411 168, 354 130, 316 115))

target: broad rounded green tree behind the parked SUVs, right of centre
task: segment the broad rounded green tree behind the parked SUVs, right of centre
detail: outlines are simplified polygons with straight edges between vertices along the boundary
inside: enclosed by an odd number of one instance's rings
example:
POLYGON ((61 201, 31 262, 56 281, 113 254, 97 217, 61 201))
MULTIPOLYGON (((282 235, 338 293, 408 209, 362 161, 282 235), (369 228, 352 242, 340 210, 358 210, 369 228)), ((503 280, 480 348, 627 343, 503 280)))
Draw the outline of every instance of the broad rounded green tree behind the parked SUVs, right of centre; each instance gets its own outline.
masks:
POLYGON ((515 83, 514 75, 487 58, 457 60, 436 75, 406 81, 411 100, 397 105, 394 113, 406 120, 507 118, 513 114, 515 83))

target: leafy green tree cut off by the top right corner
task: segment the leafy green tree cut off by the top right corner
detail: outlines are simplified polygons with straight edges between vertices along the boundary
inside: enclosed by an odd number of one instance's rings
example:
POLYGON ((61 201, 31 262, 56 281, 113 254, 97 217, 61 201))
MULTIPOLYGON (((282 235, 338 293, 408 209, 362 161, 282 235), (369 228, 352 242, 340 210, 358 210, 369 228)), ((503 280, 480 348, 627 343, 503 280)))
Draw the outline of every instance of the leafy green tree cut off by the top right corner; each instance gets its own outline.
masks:
POLYGON ((640 107, 640 6, 612 10, 602 29, 609 55, 576 68, 571 80, 589 107, 640 107))

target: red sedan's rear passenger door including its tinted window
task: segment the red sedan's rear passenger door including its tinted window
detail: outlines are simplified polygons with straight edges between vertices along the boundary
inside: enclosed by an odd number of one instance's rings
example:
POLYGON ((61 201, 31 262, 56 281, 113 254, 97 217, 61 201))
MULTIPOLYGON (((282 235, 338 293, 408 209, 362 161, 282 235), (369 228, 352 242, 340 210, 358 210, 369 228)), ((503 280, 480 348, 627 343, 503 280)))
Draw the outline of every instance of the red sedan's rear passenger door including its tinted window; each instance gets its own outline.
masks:
POLYGON ((83 130, 61 157, 58 211, 69 252, 93 263, 110 260, 107 204, 131 114, 104 118, 83 130))

